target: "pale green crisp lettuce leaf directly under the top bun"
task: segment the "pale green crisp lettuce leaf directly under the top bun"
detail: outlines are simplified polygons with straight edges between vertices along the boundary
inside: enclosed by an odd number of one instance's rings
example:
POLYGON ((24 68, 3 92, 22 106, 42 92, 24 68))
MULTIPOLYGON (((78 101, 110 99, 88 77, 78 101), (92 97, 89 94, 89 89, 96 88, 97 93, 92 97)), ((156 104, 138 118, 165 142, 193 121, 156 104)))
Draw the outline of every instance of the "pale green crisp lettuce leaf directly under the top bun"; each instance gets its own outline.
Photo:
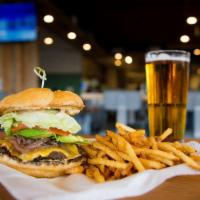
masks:
POLYGON ((20 122, 25 124, 28 128, 36 126, 49 129, 58 128, 70 133, 77 133, 81 127, 77 121, 68 114, 56 110, 39 110, 39 111, 26 111, 20 113, 7 113, 0 117, 1 127, 5 129, 6 134, 10 134, 12 122, 20 122))

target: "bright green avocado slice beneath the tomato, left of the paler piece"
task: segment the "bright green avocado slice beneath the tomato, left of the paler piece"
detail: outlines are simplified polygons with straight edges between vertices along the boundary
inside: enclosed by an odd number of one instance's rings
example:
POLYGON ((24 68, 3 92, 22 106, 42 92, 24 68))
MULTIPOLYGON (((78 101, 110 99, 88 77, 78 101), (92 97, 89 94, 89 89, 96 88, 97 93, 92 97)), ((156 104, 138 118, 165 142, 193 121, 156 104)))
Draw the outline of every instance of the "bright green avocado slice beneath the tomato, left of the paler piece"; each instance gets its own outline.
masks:
POLYGON ((15 133, 16 135, 23 136, 25 138, 44 138, 50 137, 54 134, 49 132, 48 130, 41 130, 41 129, 23 129, 15 133))

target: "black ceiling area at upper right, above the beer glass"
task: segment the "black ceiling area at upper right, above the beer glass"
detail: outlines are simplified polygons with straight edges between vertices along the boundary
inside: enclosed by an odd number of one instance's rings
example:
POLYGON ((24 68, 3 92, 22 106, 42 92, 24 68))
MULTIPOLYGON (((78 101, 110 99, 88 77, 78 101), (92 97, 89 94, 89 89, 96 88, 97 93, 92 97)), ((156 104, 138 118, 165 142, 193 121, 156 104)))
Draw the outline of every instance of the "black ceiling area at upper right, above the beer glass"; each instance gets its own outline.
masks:
POLYGON ((96 0, 51 2, 71 18, 108 53, 147 51, 153 48, 192 50, 200 47, 200 22, 186 24, 188 16, 200 19, 199 0, 96 0), (182 34, 191 41, 181 44, 182 34))

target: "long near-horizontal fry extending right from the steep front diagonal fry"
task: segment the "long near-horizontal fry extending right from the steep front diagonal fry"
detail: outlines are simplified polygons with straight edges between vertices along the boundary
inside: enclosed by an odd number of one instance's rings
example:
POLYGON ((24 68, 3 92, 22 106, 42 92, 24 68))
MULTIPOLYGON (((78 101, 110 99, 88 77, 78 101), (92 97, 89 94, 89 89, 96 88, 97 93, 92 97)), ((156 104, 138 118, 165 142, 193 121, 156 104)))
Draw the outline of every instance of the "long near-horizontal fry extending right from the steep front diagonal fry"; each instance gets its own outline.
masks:
POLYGON ((165 152, 165 151, 147 149, 147 148, 138 148, 138 147, 133 147, 133 149, 135 150, 135 153, 137 155, 144 153, 147 156, 148 155, 155 155, 155 156, 160 156, 162 158, 166 158, 166 159, 169 159, 169 160, 174 160, 174 161, 179 160, 179 158, 177 156, 175 156, 171 153, 165 152))

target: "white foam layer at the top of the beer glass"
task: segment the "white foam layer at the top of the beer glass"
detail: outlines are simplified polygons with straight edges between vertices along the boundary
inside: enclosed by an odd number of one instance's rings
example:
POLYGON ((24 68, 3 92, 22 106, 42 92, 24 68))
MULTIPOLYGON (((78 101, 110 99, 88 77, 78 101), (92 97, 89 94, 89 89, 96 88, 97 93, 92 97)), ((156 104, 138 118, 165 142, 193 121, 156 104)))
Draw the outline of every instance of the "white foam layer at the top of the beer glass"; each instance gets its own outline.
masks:
POLYGON ((145 56, 146 62, 154 62, 154 61, 183 61, 183 62, 190 62, 190 54, 180 54, 180 55, 169 55, 166 53, 159 53, 159 51, 149 52, 145 56))

